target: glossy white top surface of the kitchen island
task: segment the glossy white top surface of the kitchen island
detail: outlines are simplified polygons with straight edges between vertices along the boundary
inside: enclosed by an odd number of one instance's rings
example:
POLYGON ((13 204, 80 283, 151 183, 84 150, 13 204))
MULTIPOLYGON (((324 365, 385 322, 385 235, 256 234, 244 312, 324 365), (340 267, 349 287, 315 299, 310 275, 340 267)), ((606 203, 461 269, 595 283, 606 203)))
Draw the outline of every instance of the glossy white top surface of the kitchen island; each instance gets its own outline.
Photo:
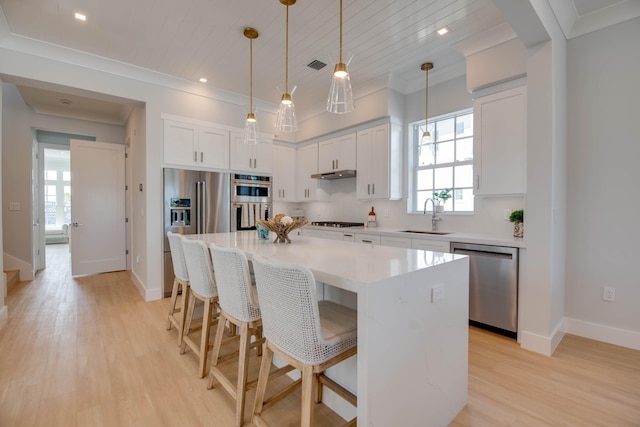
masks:
POLYGON ((434 265, 459 259, 460 255, 342 242, 307 236, 290 235, 292 243, 260 240, 255 231, 193 234, 187 239, 200 239, 207 245, 239 248, 251 260, 254 254, 282 262, 307 266, 317 280, 358 292, 367 284, 416 272, 434 265), (427 256, 429 254, 429 256, 427 256), (437 256, 432 256, 433 254, 437 256))

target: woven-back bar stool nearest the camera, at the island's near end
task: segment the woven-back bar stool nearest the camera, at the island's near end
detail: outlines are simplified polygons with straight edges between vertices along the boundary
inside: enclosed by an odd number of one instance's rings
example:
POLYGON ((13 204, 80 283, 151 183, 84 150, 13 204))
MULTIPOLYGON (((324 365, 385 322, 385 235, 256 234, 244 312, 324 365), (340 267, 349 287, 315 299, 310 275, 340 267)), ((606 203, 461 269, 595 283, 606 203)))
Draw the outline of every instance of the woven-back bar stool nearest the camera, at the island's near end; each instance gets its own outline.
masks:
MULTIPOLYGON (((265 351, 262 356, 252 421, 268 426, 262 411, 302 384, 301 425, 311 426, 314 401, 325 385, 356 406, 353 393, 323 372, 357 353, 357 312, 330 301, 318 301, 316 281, 301 265, 284 264, 259 255, 252 259, 262 311, 265 351), (273 355, 300 370, 301 379, 265 399, 273 355)), ((356 425, 356 419, 346 425, 356 425)))

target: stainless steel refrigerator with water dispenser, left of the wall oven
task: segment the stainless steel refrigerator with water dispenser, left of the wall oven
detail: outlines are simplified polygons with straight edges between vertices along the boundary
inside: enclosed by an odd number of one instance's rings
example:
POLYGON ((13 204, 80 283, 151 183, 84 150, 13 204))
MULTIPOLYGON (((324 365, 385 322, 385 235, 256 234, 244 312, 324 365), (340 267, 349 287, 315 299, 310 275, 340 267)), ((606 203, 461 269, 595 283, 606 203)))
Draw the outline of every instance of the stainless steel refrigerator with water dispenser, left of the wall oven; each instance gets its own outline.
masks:
POLYGON ((164 169, 164 295, 171 295, 173 262, 167 231, 180 234, 223 233, 231 228, 230 175, 164 169))

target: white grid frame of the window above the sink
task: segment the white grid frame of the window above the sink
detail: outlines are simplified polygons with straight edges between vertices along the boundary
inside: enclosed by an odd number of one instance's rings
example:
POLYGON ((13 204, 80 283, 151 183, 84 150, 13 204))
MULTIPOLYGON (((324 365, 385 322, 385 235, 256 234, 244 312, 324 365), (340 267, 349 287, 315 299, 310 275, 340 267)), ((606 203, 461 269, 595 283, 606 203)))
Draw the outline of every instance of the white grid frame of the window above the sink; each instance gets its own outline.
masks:
MULTIPOLYGON (((451 118, 457 119, 458 117, 462 117, 462 116, 467 116, 471 114, 471 123, 473 126, 473 108, 465 108, 462 110, 458 110, 452 113, 448 113, 448 114, 443 114, 437 117, 432 117, 429 120, 426 121, 426 126, 435 124, 436 122, 442 122, 445 120, 449 120, 451 118)), ((462 139, 466 139, 466 138, 471 138, 472 140, 472 153, 473 153, 473 131, 471 135, 465 135, 464 137, 460 137, 458 138, 458 135, 455 132, 456 129, 456 125, 457 123, 454 122, 454 132, 453 132, 453 138, 446 140, 446 141, 454 141, 454 153, 453 153, 453 161, 452 162, 448 162, 448 163, 441 163, 441 164, 432 164, 432 165, 425 165, 425 166, 420 166, 419 163, 419 149, 420 149, 420 140, 422 138, 422 132, 424 131, 425 128, 425 120, 418 120, 415 122, 411 122, 408 124, 408 133, 407 135, 408 137, 408 145, 409 145, 409 149, 408 149, 408 154, 409 154, 409 176, 408 176, 408 197, 407 197, 407 213, 408 214, 424 214, 424 210, 421 206, 418 206, 418 200, 420 199, 418 197, 418 172, 419 171, 424 171, 424 170, 432 170, 435 173, 436 169, 439 168, 445 168, 445 167, 451 167, 453 168, 453 182, 455 183, 455 167, 457 166, 467 166, 470 165, 471 169, 472 169, 472 176, 473 176, 473 162, 474 159, 473 157, 470 160, 464 160, 464 161, 457 161, 456 160, 456 155, 457 155, 457 142, 458 140, 462 140, 462 139)), ((473 128, 472 128, 473 129, 473 128)), ((434 135, 435 137, 435 135, 434 135)), ((439 141, 438 143, 441 143, 443 141, 439 141)), ((446 215, 473 215, 475 212, 475 203, 473 204, 473 209, 472 210, 455 210, 455 199, 456 199, 456 190, 468 190, 471 191, 471 197, 475 198, 474 194, 473 194, 473 181, 471 182, 471 185, 468 187, 453 187, 453 197, 450 199, 452 206, 453 206, 453 210, 452 209, 447 209, 445 210, 443 213, 446 215)), ((440 188, 435 188, 435 182, 434 182, 434 188, 432 191, 439 191, 441 190, 440 188)), ((429 204, 428 207, 430 207, 431 205, 429 204)), ((427 207, 427 208, 428 208, 427 207)), ((427 209, 426 213, 432 213, 433 212, 433 207, 429 210, 427 209)))

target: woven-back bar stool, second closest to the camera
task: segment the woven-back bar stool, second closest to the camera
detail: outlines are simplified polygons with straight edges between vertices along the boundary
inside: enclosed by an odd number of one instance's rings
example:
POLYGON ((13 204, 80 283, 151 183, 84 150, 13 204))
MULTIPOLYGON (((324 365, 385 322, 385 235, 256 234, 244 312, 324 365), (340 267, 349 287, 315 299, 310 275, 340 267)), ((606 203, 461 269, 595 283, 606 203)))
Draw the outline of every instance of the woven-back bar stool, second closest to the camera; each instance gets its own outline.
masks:
POLYGON ((209 370, 209 385, 211 389, 216 380, 236 400, 236 426, 242 426, 244 422, 244 406, 246 392, 255 388, 257 379, 248 382, 249 353, 256 348, 257 354, 262 354, 262 320, 260 318, 260 306, 256 287, 251 284, 249 263, 244 252, 235 248, 221 248, 211 245, 211 260, 213 271, 218 286, 218 304, 220 305, 220 319, 213 343, 211 356, 211 368, 209 370), (239 336, 233 336, 223 343, 223 334, 226 321, 235 325, 239 330, 239 336), (251 342, 254 336, 255 341, 251 342), (223 344, 231 340, 240 339, 238 352, 220 355, 223 344), (234 385, 227 378, 221 366, 233 359, 230 356, 238 355, 238 378, 234 385))

